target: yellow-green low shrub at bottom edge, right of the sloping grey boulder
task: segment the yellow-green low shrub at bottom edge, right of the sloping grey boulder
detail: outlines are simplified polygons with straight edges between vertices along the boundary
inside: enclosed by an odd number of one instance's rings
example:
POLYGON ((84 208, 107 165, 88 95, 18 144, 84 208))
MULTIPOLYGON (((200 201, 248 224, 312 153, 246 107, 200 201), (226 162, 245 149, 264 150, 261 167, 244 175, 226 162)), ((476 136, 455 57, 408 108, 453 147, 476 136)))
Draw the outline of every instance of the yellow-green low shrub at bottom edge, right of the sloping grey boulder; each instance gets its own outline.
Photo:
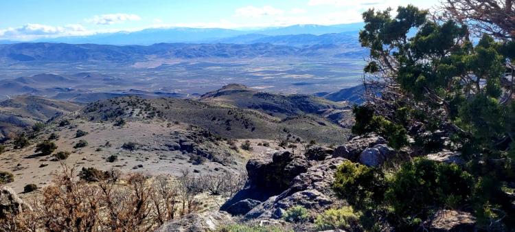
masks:
POLYGON ((321 231, 331 229, 344 229, 348 231, 361 231, 359 219, 361 213, 354 211, 352 207, 347 206, 341 209, 328 209, 321 215, 317 216, 314 224, 321 231))

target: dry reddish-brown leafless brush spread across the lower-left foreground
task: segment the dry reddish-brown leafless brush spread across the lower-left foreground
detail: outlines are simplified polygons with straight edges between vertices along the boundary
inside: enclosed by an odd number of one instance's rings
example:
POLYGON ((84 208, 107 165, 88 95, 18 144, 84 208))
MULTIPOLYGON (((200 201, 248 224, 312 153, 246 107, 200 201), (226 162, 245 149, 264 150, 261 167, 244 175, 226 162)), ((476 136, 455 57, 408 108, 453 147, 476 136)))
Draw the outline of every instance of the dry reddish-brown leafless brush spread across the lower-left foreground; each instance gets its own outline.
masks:
POLYGON ((186 170, 179 178, 113 171, 92 183, 78 180, 76 167, 63 163, 52 185, 25 200, 32 210, 0 219, 0 231, 153 231, 200 210, 199 194, 230 196, 243 179, 186 170))

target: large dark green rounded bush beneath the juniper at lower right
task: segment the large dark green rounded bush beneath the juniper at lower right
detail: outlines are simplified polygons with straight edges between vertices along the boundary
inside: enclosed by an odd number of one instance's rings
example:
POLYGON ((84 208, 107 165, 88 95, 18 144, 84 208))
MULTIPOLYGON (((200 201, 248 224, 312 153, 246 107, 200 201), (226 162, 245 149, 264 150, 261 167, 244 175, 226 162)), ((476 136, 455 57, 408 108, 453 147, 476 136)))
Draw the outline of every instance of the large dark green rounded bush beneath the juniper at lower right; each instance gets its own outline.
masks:
POLYGON ((432 208, 448 202, 464 203, 472 194, 474 179, 454 163, 415 159, 404 163, 389 185, 385 198, 398 216, 413 221, 425 220, 432 208))

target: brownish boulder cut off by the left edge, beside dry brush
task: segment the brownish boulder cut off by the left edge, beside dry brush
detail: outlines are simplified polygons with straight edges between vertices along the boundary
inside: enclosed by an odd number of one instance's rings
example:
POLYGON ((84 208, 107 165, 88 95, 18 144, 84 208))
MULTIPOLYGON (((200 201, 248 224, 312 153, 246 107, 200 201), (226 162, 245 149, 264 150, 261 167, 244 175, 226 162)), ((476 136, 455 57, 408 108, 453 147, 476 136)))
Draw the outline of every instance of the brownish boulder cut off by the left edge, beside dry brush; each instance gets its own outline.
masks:
POLYGON ((10 187, 0 186, 0 218, 5 218, 8 214, 18 214, 30 207, 16 195, 10 187))

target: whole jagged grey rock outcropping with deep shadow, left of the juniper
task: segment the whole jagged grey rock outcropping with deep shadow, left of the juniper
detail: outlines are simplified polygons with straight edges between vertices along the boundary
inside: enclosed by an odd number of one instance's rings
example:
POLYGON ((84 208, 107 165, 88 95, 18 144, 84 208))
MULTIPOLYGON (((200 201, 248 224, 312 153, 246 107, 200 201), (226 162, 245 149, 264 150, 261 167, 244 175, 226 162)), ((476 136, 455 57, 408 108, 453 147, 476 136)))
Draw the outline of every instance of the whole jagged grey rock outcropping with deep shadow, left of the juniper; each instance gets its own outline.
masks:
POLYGON ((334 172, 345 159, 365 165, 380 165, 395 152, 378 136, 356 137, 336 150, 312 146, 305 154, 277 150, 247 163, 245 187, 227 200, 220 210, 247 219, 281 218, 284 211, 300 205, 311 219, 344 202, 332 191, 334 172), (367 152, 373 151, 368 155, 367 152))

